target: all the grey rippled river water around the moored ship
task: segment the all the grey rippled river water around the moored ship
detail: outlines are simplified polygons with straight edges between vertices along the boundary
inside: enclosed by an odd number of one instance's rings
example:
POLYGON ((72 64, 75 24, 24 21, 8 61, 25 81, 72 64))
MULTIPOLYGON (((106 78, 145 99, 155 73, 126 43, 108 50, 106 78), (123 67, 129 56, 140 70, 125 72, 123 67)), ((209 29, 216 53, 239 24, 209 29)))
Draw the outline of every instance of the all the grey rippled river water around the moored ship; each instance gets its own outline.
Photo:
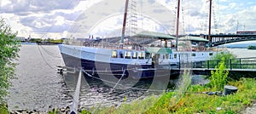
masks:
MULTIPOLYGON (((256 57, 256 50, 246 48, 229 50, 237 57, 256 57)), ((19 63, 16 69, 18 78, 12 81, 14 86, 9 89, 10 94, 7 99, 9 110, 48 111, 71 105, 78 74, 67 73, 61 76, 56 73, 56 66, 64 66, 56 45, 22 45, 19 63)), ((91 77, 82 77, 82 81, 80 105, 83 107, 98 104, 119 105, 125 97, 131 101, 152 94, 145 90, 134 89, 119 89, 110 93, 111 88, 102 81, 91 77)), ((145 80, 134 87, 147 89, 151 83, 152 80, 145 80)))

